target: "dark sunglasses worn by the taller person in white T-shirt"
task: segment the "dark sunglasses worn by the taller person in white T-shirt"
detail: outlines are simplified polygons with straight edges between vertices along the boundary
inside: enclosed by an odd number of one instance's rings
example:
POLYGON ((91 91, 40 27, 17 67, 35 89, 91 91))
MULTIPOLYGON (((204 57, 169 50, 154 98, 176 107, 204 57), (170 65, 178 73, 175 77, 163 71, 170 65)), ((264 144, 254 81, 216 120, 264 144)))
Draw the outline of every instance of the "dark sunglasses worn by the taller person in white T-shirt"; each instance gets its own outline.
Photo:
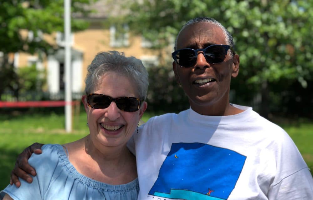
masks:
POLYGON ((188 68, 194 66, 197 63, 199 51, 203 51, 203 55, 208 63, 216 64, 222 63, 224 61, 228 49, 235 53, 233 47, 229 45, 214 44, 204 49, 197 50, 191 48, 178 49, 172 53, 172 57, 178 65, 188 68))

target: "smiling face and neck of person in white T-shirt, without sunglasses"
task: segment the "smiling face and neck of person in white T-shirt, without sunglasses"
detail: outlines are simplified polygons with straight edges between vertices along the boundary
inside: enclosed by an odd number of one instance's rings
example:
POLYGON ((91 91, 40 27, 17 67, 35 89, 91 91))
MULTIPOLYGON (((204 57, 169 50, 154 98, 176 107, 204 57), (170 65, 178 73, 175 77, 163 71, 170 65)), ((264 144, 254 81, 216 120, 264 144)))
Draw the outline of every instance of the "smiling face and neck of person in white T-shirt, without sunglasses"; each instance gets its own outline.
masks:
MULTIPOLYGON (((200 49, 213 44, 226 44, 223 30, 215 24, 200 22, 187 26, 177 38, 177 49, 200 49)), ((231 77, 236 77, 239 70, 239 56, 231 58, 228 54, 224 62, 210 64, 198 52, 197 63, 183 68, 173 62, 177 82, 188 96, 191 108, 202 115, 233 114, 229 104, 231 77)))

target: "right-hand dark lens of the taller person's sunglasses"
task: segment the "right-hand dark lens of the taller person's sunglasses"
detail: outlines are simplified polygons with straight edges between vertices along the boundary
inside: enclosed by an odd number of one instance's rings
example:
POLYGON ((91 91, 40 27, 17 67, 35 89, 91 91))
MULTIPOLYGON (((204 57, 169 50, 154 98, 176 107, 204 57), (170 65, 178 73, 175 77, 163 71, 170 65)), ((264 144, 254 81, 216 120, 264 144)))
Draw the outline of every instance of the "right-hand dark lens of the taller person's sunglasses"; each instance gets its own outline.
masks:
POLYGON ((227 54, 225 47, 222 45, 209 46, 205 50, 205 58, 209 63, 221 63, 227 54))

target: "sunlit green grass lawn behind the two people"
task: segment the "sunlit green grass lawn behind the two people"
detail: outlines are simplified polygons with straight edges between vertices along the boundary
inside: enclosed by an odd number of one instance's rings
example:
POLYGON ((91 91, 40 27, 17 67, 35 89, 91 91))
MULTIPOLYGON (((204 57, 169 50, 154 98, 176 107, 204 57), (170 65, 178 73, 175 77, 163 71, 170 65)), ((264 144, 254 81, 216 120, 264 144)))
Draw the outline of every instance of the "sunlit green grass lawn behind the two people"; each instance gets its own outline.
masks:
MULTIPOLYGON (((154 116, 145 113, 143 121, 154 116)), ((299 148, 305 162, 313 170, 313 122, 280 124, 299 148)), ((68 143, 88 134, 86 114, 73 118, 72 133, 64 130, 64 114, 1 114, 0 115, 0 190, 9 183, 9 175, 18 154, 34 142, 68 143)))

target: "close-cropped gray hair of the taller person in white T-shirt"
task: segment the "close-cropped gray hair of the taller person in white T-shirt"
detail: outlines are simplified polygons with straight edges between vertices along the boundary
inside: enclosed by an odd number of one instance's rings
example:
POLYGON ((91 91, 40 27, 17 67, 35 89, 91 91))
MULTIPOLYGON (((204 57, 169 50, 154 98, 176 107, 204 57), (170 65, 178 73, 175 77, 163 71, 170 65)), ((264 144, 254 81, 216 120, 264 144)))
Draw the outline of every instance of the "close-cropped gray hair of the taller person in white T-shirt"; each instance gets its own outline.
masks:
MULTIPOLYGON (((201 23, 201 22, 207 22, 207 23, 211 23, 211 24, 215 24, 216 26, 220 27, 223 32, 224 32, 224 35, 225 35, 225 40, 226 40, 226 44, 233 47, 234 45, 234 41, 233 41, 233 36, 232 34, 220 23, 218 22, 217 20, 213 19, 213 18, 210 18, 210 17, 196 17, 196 18, 193 18, 191 20, 189 20, 183 27, 182 29, 180 29, 180 31, 178 32, 177 34, 177 37, 176 37, 176 40, 175 40, 175 46, 174 46, 174 49, 175 51, 177 50, 177 39, 180 35, 180 33, 189 25, 192 25, 192 24, 196 24, 196 23, 201 23)), ((231 51, 230 55, 233 57, 234 53, 233 51, 231 51)))

